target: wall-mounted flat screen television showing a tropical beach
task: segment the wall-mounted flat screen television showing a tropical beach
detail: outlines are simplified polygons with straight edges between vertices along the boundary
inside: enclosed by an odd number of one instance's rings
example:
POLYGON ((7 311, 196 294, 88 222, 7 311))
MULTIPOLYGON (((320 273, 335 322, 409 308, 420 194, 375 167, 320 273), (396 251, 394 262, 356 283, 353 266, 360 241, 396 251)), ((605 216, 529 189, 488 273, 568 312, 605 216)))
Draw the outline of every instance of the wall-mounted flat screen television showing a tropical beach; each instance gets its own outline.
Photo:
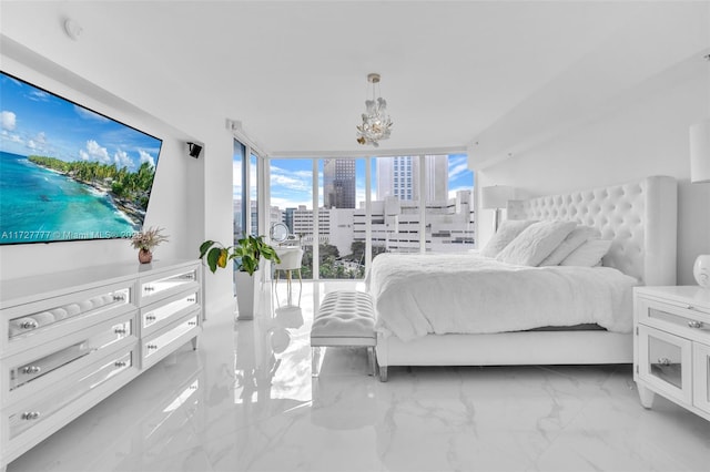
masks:
POLYGON ((0 245, 129 238, 162 140, 0 71, 0 245))

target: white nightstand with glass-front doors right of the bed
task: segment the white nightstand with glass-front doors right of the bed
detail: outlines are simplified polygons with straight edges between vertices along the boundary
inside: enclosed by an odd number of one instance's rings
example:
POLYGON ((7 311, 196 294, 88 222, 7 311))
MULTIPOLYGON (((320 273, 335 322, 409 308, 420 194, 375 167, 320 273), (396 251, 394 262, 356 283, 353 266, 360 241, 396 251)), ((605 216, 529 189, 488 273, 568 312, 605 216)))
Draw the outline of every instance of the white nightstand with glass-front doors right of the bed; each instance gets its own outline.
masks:
POLYGON ((636 287, 633 334, 641 404, 658 393, 710 420, 710 290, 636 287))

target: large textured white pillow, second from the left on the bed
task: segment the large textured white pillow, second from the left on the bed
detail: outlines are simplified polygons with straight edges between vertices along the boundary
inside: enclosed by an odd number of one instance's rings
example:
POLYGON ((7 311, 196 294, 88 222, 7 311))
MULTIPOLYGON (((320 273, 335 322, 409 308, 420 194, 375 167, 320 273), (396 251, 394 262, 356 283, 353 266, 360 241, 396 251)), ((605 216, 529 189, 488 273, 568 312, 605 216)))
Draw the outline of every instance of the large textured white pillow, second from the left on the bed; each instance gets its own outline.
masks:
POLYGON ((575 222, 534 223, 507 245, 496 259, 518 266, 537 266, 577 226, 575 222))

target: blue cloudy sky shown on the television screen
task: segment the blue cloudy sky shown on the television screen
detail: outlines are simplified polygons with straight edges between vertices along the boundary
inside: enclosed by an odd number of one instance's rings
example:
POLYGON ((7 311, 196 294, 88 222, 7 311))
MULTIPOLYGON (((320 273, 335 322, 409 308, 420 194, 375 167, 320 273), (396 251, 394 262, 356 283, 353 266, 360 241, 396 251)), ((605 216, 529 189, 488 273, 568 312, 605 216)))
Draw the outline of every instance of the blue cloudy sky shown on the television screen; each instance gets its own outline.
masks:
POLYGON ((0 73, 0 151, 62 161, 158 164, 161 141, 0 73))

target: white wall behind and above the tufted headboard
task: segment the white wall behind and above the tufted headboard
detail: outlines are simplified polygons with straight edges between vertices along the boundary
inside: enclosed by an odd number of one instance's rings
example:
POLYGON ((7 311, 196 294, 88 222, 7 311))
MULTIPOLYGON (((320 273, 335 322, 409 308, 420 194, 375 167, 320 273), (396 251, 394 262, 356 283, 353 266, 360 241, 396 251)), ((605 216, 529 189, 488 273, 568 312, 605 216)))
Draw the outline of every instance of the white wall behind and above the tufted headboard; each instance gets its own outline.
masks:
MULTIPOLYGON (((609 112, 478 173, 480 186, 513 185, 519 196, 565 193, 670 175, 679 183, 678 283, 710 254, 710 184, 690 184, 689 126, 710 116, 710 63, 679 64, 616 100, 609 112)), ((545 120, 545 116, 539 116, 545 120)), ((489 211, 480 234, 490 237, 489 211)))

